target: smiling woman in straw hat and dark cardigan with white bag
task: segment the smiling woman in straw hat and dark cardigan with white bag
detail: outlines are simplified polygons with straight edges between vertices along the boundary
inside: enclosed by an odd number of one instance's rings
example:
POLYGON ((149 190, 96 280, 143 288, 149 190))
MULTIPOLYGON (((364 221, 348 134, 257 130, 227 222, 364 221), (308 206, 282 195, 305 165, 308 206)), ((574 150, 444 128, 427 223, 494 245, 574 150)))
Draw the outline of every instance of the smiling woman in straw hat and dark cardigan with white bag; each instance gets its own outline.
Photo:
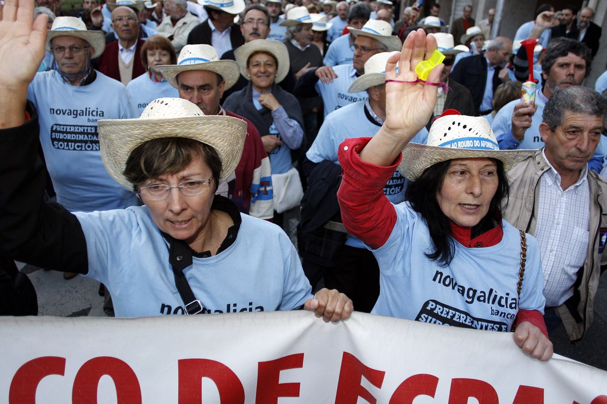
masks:
MULTIPOLYGON (((239 47, 234 56, 240 73, 250 81, 247 87, 232 93, 223 107, 244 116, 259 129, 272 166, 274 198, 281 200, 281 195, 302 192, 301 184, 299 189, 291 189, 280 187, 277 178, 275 180, 276 175, 299 177, 291 163, 291 152, 299 149, 304 138, 302 112, 297 99, 276 84, 289 72, 287 47, 282 42, 256 39, 239 47)), ((297 204, 299 200, 283 210, 297 204)), ((275 223, 281 224, 280 217, 275 216, 275 219, 275 223)))

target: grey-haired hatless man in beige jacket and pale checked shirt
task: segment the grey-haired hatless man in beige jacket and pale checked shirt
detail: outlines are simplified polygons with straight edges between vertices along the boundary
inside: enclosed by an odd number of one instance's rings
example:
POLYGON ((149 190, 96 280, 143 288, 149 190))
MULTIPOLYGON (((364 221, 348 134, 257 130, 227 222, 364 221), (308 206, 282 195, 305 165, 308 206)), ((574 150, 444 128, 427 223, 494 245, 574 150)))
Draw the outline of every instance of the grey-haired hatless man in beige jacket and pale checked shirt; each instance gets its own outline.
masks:
POLYGON ((572 341, 592 323, 599 276, 607 266, 607 183, 588 169, 607 103, 571 86, 548 100, 539 130, 545 146, 509 172, 504 219, 540 244, 548 331, 562 322, 572 341))

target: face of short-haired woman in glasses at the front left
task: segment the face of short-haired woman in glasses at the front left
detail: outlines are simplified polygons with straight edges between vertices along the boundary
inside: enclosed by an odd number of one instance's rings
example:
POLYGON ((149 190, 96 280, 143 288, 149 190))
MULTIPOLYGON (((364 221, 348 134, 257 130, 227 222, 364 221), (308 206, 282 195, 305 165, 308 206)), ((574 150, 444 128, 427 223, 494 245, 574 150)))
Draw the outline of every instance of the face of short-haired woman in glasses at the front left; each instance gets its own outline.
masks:
MULTIPOLYGON (((141 186, 152 184, 168 184, 176 187, 188 180, 211 178, 209 166, 200 156, 192 158, 188 167, 178 173, 160 175, 144 181, 141 186)), ((160 201, 151 201, 144 193, 141 200, 146 204, 154 224, 171 237, 184 240, 195 251, 202 251, 203 235, 209 225, 211 204, 214 198, 215 178, 211 184, 204 187, 202 194, 187 197, 177 188, 172 188, 168 198, 160 201)))

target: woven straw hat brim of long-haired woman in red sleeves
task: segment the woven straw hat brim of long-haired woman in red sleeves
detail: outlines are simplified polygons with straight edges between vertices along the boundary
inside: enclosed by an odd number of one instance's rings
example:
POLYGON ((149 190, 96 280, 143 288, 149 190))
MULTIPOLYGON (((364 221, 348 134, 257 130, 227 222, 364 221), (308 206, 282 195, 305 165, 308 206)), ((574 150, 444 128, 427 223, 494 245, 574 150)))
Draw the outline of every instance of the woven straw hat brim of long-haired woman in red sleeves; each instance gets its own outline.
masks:
POLYGON ((411 181, 421 177, 424 170, 441 161, 456 158, 497 158, 504 163, 508 172, 519 161, 531 156, 537 150, 478 150, 453 149, 451 147, 427 146, 426 144, 409 143, 402 149, 402 160, 398 172, 411 181))

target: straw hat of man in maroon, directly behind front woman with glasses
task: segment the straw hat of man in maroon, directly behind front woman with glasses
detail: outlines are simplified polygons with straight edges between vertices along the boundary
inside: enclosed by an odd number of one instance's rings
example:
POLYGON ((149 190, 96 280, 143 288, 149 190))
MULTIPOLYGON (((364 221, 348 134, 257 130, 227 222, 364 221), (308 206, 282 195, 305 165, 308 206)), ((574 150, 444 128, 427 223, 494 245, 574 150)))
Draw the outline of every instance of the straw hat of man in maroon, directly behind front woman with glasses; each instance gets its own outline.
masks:
POLYGON ((211 45, 185 45, 179 53, 177 64, 165 64, 158 66, 158 69, 166 81, 176 89, 177 75, 189 70, 209 70, 217 73, 225 80, 226 90, 234 86, 240 76, 238 64, 233 60, 219 60, 217 51, 211 45))

